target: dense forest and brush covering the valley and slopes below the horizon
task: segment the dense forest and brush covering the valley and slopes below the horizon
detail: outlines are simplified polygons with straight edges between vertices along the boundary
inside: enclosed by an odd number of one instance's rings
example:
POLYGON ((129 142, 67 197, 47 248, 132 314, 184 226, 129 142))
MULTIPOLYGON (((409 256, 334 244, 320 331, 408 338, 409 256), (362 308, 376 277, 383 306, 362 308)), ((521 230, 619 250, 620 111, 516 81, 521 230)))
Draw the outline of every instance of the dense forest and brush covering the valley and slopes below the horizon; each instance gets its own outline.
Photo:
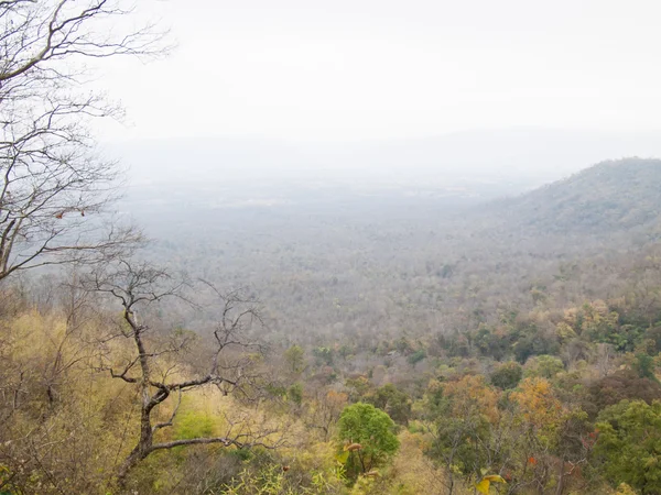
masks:
POLYGON ((628 160, 462 211, 226 210, 148 224, 169 272, 10 277, 2 490, 658 493, 658 186, 628 160), (577 228, 548 228, 560 210, 577 228))

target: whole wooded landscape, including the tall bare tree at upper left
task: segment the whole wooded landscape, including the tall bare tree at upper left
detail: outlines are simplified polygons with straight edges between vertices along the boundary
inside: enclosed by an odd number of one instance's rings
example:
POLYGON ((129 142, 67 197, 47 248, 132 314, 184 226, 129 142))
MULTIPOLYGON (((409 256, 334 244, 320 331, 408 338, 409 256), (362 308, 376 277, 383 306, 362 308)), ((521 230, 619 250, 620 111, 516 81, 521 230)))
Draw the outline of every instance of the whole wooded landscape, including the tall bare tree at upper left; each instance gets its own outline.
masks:
POLYGON ((0 2, 0 495, 661 493, 661 160, 127 193, 82 3, 0 2))

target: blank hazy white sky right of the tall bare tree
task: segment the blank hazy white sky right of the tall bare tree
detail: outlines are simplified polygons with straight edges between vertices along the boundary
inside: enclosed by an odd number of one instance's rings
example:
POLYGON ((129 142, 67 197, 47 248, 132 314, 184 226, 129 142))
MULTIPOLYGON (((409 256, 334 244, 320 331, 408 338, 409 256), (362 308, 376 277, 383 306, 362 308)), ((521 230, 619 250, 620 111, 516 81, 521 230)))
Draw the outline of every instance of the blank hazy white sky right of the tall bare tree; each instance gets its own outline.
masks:
POLYGON ((140 0, 178 48, 109 61, 107 138, 661 130, 659 0, 140 0))

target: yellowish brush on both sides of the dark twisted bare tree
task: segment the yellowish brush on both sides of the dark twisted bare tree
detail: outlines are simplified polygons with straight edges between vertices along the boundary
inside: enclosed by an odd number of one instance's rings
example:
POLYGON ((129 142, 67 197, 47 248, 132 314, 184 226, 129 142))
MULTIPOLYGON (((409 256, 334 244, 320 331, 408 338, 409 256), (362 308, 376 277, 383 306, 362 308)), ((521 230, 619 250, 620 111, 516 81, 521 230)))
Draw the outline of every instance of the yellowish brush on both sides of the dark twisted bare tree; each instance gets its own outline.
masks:
MULTIPOLYGON (((138 386, 99 370, 100 364, 123 370, 134 358, 130 341, 104 339, 116 331, 101 319, 85 319, 74 327, 64 316, 33 310, 0 321, 0 378, 7 389, 20 391, 11 405, 15 411, 0 428, 8 459, 3 464, 12 472, 20 469, 25 473, 22 483, 29 480, 33 484, 25 485, 26 493, 62 493, 62 487, 67 493, 89 494, 111 490, 121 462, 136 444, 140 419, 138 386), (14 464, 12 459, 17 460, 14 464), (48 486, 42 479, 44 472, 52 476, 48 486)), ((174 359, 164 355, 158 363, 154 360, 154 376, 166 374, 167 381, 189 377, 184 366, 175 366, 174 359)), ((169 419, 176 403, 177 396, 172 394, 155 409, 154 421, 169 419)), ((243 432, 271 429, 277 421, 254 408, 238 406, 214 387, 187 393, 180 413, 174 428, 159 430, 156 441, 173 439, 177 422, 186 427, 183 438, 192 438, 225 433, 229 427, 226 417, 236 425, 234 431, 241 428, 243 432), (198 418, 208 425, 196 428, 198 418)), ((333 462, 326 464, 332 469, 333 462)), ((159 465, 154 476, 167 492, 173 475, 162 469, 162 462, 159 465)), ((155 485, 149 490, 155 490, 155 485)))

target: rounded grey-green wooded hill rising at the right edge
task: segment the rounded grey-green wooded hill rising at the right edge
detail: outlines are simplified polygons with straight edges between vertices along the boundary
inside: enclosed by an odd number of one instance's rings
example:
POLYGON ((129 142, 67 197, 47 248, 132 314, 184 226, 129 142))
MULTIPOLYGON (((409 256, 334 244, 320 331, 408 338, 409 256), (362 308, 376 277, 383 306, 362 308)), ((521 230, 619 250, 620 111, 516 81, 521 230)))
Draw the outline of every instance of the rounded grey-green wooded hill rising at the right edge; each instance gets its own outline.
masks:
POLYGON ((661 160, 602 162, 517 198, 492 213, 540 233, 655 231, 661 218, 661 160))

